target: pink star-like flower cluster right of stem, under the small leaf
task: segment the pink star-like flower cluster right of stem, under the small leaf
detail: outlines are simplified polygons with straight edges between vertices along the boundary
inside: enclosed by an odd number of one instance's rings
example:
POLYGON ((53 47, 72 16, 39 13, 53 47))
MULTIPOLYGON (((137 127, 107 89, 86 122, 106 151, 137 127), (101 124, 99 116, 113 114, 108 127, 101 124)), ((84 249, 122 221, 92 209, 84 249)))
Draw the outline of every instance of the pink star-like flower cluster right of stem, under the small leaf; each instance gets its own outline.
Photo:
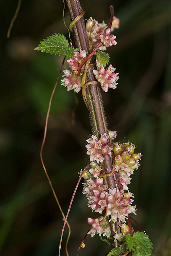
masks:
POLYGON ((118 74, 114 73, 115 68, 110 65, 108 68, 97 68, 93 70, 95 78, 101 84, 101 88, 103 91, 107 92, 108 88, 115 89, 117 86, 116 81, 118 80, 118 74))

